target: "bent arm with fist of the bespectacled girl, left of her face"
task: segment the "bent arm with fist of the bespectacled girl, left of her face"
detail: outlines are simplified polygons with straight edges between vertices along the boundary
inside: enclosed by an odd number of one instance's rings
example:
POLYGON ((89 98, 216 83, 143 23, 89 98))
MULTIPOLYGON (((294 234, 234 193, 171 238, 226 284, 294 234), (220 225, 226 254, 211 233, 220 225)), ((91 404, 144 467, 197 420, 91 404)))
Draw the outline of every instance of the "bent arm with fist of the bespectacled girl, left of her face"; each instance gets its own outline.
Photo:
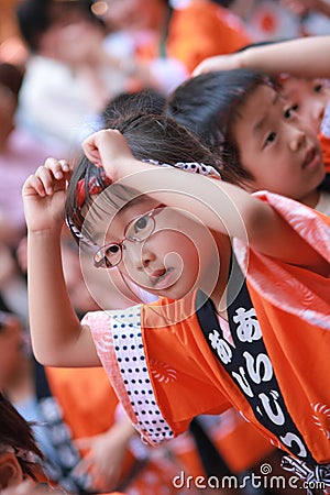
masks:
POLYGON ((53 366, 99 365, 89 329, 70 304, 62 268, 66 162, 48 158, 23 185, 30 330, 36 359, 53 366))

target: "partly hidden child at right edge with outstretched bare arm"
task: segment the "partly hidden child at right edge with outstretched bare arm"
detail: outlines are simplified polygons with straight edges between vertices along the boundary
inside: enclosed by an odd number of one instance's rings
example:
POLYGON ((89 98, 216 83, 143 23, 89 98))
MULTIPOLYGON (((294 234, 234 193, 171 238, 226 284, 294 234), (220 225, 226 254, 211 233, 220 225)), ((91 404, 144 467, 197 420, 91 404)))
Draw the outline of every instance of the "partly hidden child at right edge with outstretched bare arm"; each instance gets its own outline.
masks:
POLYGON ((326 105, 329 102, 329 87, 324 81, 330 78, 329 48, 329 35, 278 43, 261 42, 232 55, 206 58, 196 67, 194 74, 197 76, 211 70, 251 68, 276 77, 279 75, 283 94, 289 98, 295 110, 307 118, 316 132, 319 132, 326 169, 330 172, 329 117, 320 127, 326 105))

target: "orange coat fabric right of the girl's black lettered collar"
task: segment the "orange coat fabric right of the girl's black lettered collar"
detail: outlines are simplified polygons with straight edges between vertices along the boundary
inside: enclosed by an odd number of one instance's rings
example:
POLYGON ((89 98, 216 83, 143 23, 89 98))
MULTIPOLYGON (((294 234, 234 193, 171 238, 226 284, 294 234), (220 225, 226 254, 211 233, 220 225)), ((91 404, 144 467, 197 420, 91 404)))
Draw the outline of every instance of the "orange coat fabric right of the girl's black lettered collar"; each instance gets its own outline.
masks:
MULTIPOLYGON (((257 196, 330 263, 328 217, 277 195, 257 196)), ((315 459, 329 462, 330 278, 250 251, 248 285, 289 413, 315 459)))

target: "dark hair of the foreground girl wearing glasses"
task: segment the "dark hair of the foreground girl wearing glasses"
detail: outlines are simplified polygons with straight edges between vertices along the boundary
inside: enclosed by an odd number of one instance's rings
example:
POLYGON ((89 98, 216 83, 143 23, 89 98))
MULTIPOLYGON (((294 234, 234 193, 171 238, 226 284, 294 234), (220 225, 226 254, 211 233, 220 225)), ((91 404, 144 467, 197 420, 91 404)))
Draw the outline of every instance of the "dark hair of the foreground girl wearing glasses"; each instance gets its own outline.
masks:
MULTIPOLYGON (((144 94, 142 96, 144 98, 144 94)), ((121 114, 119 111, 116 113, 116 119, 111 118, 111 122, 108 120, 108 123, 111 123, 111 128, 119 130, 127 139, 135 158, 153 160, 169 165, 175 165, 178 162, 200 162, 218 168, 218 161, 215 155, 187 129, 168 116, 150 113, 150 105, 147 106, 147 112, 144 109, 145 107, 141 105, 141 100, 136 96, 134 99, 125 102, 121 114)), ((119 107, 117 107, 117 110, 119 110, 119 107)), ((78 183, 81 184, 81 180, 85 189, 84 205, 87 207, 92 202, 92 197, 88 190, 90 182, 97 180, 101 190, 108 186, 103 170, 82 156, 74 169, 66 200, 66 213, 74 226, 72 231, 78 229, 79 232, 81 232, 81 226, 85 221, 81 207, 77 201, 77 187, 78 183)), ((108 197, 106 204, 102 201, 103 209, 107 209, 108 205, 119 209, 130 199, 136 197, 136 191, 123 189, 116 184, 109 189, 111 198, 108 197), (107 204, 107 201, 109 202, 107 204)), ((84 231, 87 237, 91 234, 86 222, 84 231)), ((76 235, 76 238, 79 238, 79 235, 76 235)))

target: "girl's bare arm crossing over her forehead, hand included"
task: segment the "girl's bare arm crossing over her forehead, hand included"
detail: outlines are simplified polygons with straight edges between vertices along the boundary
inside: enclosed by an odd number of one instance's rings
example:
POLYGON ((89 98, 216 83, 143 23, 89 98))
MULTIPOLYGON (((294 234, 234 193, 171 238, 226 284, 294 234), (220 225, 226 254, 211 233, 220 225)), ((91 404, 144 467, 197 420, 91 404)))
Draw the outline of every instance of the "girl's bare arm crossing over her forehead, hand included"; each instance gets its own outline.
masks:
POLYGON ((120 180, 183 212, 209 229, 249 243, 255 251, 328 275, 329 264, 266 202, 232 184, 135 160, 118 131, 103 130, 84 143, 87 157, 120 180))

